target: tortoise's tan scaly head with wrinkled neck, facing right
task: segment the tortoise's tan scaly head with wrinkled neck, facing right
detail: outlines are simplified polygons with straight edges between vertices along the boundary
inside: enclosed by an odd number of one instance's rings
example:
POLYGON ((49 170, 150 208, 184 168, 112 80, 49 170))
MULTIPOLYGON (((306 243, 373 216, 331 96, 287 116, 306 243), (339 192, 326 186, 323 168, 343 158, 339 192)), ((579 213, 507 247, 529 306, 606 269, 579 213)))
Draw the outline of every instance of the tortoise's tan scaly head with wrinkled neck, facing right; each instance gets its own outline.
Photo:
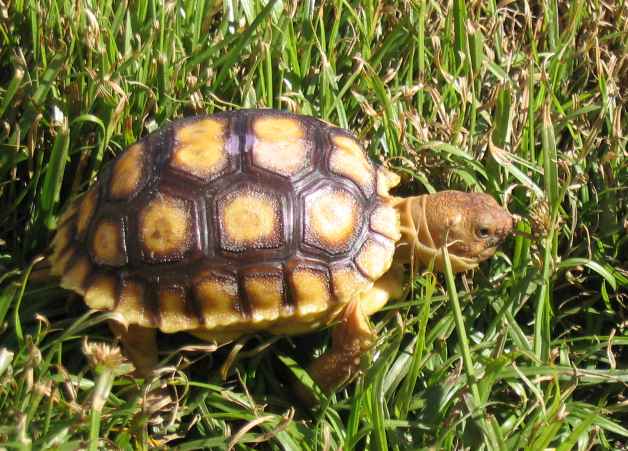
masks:
POLYGON ((443 268, 444 245, 453 270, 466 271, 492 257, 513 227, 512 216, 488 194, 441 191, 409 200, 414 257, 424 265, 434 258, 436 270, 443 268))

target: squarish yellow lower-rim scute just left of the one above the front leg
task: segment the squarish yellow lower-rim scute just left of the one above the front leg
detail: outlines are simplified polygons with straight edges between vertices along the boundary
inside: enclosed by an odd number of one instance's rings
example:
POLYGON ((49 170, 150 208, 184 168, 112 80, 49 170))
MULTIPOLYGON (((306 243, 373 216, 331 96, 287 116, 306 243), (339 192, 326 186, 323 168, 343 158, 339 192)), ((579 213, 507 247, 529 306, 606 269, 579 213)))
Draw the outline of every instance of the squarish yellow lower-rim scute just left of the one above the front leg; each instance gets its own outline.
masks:
POLYGON ((290 275, 297 315, 306 317, 327 310, 331 302, 326 273, 308 267, 297 267, 290 275))

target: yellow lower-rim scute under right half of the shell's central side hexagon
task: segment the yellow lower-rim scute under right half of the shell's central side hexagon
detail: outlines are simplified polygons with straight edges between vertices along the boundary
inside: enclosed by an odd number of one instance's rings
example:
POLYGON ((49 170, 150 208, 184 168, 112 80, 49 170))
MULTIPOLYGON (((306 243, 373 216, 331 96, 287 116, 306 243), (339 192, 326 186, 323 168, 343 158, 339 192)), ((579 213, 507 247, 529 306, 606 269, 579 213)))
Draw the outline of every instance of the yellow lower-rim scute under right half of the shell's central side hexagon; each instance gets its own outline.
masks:
POLYGON ((250 273, 244 276, 244 290, 253 322, 272 321, 281 314, 283 279, 280 273, 250 273))

